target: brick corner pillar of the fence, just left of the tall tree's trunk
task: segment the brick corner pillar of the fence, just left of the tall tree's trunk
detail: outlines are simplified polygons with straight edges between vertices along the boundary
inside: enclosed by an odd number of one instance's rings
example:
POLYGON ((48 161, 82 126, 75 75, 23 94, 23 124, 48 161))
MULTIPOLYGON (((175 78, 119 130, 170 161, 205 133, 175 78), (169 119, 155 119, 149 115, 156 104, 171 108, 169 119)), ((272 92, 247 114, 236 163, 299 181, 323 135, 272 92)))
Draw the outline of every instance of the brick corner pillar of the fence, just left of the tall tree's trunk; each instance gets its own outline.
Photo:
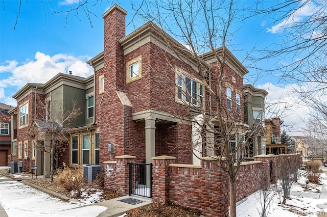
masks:
POLYGON ((228 216, 229 178, 213 157, 201 158, 200 207, 205 216, 228 216))

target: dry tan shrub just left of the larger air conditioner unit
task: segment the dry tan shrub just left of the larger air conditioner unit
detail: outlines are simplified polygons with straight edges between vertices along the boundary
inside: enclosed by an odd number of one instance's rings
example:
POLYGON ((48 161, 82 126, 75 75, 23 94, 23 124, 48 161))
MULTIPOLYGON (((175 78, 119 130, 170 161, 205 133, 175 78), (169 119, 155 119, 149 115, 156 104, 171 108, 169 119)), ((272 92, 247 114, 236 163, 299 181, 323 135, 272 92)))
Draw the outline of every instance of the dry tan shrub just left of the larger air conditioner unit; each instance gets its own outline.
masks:
POLYGON ((79 194, 84 185, 83 170, 64 167, 63 170, 57 170, 54 182, 68 192, 74 191, 75 194, 79 194))

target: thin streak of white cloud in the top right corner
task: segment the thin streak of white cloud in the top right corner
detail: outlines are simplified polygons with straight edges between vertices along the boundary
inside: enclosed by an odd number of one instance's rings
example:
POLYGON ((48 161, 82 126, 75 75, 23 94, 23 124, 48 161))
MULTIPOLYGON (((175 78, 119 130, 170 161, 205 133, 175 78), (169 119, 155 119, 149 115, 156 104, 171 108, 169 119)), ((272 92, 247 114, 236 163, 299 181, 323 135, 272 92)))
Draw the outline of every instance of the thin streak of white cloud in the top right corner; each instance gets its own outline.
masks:
POLYGON ((272 28, 267 28, 267 32, 274 34, 281 32, 284 29, 290 28, 295 22, 299 22, 305 19, 306 17, 313 15, 316 11, 319 10, 320 7, 319 4, 315 4, 311 1, 308 3, 302 2, 301 4, 303 5, 297 10, 292 11, 290 15, 283 21, 277 23, 276 25, 273 25, 272 28))

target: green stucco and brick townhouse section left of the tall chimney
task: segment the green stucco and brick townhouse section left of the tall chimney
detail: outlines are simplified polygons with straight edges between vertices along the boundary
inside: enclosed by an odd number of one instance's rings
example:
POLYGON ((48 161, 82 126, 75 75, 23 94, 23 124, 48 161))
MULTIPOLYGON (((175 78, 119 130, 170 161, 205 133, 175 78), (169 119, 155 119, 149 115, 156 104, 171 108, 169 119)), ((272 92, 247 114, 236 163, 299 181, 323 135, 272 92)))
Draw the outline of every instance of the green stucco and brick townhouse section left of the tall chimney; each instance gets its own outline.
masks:
POLYGON ((11 111, 17 129, 17 138, 13 138, 17 147, 14 157, 22 161, 24 171, 37 166, 37 173, 44 172, 45 177, 49 176, 51 132, 56 132, 56 141, 67 139, 66 144, 61 144, 61 154, 55 158, 56 167, 62 166, 62 162, 71 167, 78 166, 78 159, 84 164, 98 161, 91 149, 96 141, 93 84, 93 76, 83 78, 71 72, 58 73, 45 84, 25 85, 13 96, 17 100, 17 108, 11 111), (63 122, 62 118, 73 111, 74 106, 79 108, 81 115, 71 122, 63 122), (69 134, 62 135, 60 130, 54 130, 63 128, 70 128, 74 133, 73 141, 77 137, 83 139, 84 144, 75 143, 73 146, 77 150, 83 145, 83 153, 74 149, 69 151, 69 134))

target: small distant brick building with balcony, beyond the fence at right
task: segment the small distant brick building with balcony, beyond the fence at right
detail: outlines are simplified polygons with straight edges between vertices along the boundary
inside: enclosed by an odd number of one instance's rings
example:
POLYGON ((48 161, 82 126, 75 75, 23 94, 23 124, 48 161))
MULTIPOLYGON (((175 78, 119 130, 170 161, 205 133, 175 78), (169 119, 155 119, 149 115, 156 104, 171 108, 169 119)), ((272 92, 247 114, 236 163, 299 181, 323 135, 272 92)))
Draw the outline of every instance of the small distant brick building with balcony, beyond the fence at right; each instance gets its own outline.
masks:
POLYGON ((266 154, 287 154, 287 144, 281 142, 281 120, 279 118, 265 120, 266 154))

